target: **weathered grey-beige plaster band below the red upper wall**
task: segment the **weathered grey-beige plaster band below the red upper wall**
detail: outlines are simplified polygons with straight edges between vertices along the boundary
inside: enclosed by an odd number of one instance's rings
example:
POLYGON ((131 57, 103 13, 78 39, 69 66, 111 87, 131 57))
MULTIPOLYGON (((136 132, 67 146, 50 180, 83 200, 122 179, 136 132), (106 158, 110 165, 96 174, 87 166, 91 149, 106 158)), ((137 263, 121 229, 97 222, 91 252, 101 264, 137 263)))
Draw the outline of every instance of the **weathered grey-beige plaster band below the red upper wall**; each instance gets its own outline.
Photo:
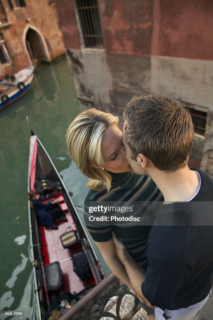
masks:
POLYGON ((154 92, 213 112, 211 61, 70 51, 84 66, 77 71, 72 68, 79 86, 85 87, 84 95, 90 92, 97 101, 114 105, 115 109, 123 108, 135 94, 154 92))

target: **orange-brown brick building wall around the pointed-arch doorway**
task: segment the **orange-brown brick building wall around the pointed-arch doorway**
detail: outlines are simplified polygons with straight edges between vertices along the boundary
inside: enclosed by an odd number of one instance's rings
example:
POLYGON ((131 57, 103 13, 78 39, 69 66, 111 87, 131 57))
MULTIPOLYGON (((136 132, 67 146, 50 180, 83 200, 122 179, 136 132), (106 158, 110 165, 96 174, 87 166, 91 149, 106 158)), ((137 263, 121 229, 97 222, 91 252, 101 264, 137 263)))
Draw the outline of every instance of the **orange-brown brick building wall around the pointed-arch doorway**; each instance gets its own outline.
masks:
MULTIPOLYGON (((1 34, 5 40, 11 65, 0 66, 0 76, 11 74, 31 63, 26 47, 26 34, 32 28, 41 44, 44 46, 46 57, 50 61, 65 52, 61 30, 58 27, 58 18, 55 5, 50 5, 48 0, 25 0, 26 6, 11 9, 7 0, 1 0, 8 26, 0 25, 1 34)), ((14 3, 14 2, 13 2, 14 3)))

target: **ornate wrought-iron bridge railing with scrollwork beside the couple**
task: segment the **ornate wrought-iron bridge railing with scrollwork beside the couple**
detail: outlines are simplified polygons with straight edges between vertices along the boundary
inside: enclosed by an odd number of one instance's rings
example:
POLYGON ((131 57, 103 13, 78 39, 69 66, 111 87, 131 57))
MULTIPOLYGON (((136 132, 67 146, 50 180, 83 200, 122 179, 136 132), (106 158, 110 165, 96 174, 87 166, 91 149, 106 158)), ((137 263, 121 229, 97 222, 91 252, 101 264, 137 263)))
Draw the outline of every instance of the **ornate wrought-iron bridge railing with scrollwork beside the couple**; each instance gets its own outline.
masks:
MULTIPOLYGON (((129 300, 129 299, 128 299, 129 300)), ((111 273, 91 291, 89 291, 81 300, 60 317, 60 320, 99 320, 104 317, 111 317, 114 320, 129 320, 140 309, 138 297, 127 290, 125 284, 120 285, 120 281, 111 273), (130 295, 133 300, 133 307, 125 315, 120 315, 121 303, 124 296, 130 295), (118 296, 110 305, 110 298, 118 296), (116 304, 115 314, 109 312, 112 304, 116 304)))

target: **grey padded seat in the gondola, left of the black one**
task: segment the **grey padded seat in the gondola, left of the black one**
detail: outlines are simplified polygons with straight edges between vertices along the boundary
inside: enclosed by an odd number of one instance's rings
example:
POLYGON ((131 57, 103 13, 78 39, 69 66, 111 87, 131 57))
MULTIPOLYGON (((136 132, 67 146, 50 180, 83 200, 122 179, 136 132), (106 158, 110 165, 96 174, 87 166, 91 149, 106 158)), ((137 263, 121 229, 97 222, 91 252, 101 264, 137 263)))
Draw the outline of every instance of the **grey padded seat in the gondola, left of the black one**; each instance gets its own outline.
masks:
POLYGON ((48 264, 45 267, 47 290, 54 291, 61 288, 61 268, 58 261, 48 264))

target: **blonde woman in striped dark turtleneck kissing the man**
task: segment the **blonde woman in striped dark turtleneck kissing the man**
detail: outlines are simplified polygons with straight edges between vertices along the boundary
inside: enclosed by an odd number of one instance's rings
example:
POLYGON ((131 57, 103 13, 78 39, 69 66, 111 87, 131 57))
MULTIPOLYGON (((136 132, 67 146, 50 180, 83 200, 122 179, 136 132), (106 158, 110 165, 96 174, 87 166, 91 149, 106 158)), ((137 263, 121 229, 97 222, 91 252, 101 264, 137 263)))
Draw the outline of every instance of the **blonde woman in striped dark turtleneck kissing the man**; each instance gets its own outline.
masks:
MULTIPOLYGON (((118 127, 119 118, 94 108, 79 114, 70 124, 66 138, 70 156, 89 178, 85 201, 162 201, 162 194, 151 178, 132 172, 118 127)), ((112 241, 112 231, 125 244, 132 258, 147 267, 145 244, 149 226, 87 225, 111 271, 132 288, 126 270, 112 241)))

